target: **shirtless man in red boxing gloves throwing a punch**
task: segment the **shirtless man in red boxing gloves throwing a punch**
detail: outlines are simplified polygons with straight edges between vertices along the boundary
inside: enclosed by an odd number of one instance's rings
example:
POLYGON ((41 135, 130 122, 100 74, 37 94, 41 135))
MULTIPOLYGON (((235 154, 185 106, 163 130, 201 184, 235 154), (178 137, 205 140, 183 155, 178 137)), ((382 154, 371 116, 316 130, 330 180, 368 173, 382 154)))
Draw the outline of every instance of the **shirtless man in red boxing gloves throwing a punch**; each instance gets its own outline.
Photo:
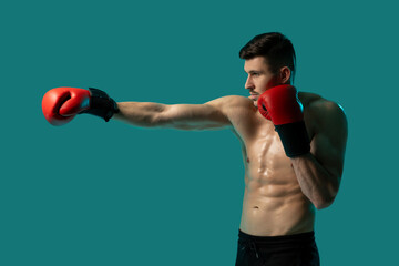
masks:
POLYGON ((291 42, 277 32, 255 37, 239 52, 249 98, 204 104, 115 103, 96 89, 57 88, 42 102, 60 125, 79 113, 136 126, 231 130, 241 141, 245 194, 236 266, 319 265, 315 208, 334 202, 342 175, 347 120, 340 105, 297 92, 291 42))

